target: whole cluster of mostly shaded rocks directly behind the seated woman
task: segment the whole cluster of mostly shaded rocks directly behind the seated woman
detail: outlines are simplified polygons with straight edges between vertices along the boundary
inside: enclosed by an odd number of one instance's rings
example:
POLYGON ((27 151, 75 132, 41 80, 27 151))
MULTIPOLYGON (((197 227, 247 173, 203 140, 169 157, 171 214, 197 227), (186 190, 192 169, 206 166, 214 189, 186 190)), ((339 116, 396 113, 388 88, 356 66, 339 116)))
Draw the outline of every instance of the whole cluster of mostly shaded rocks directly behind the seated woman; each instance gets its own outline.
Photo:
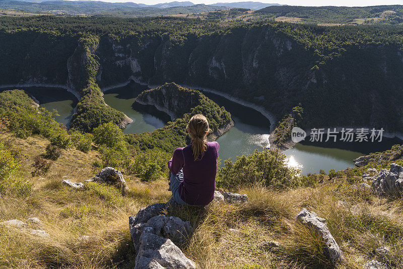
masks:
POLYGON ((185 242, 192 232, 190 223, 159 215, 164 209, 165 204, 154 204, 129 217, 130 236, 137 252, 135 268, 195 269, 195 263, 173 243, 185 242))

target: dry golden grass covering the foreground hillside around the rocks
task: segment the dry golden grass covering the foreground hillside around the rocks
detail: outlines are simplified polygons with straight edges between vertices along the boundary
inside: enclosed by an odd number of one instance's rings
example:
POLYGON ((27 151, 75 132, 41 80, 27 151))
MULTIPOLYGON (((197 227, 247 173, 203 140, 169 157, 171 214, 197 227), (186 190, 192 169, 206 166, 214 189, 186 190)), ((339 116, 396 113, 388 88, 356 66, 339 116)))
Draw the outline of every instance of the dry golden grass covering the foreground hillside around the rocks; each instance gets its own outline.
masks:
MULTIPOLYGON (((31 193, 0 197, 0 221, 38 217, 49 238, 0 226, 1 268, 132 268, 135 250, 128 232, 128 216, 141 207, 169 199, 167 181, 151 183, 124 175, 132 192, 121 196, 113 187, 86 184, 85 191, 61 185, 62 176, 84 182, 99 168, 91 164, 97 151, 84 154, 63 151, 44 179, 31 177, 33 157, 47 143, 41 138, 8 137, 21 152, 18 177, 33 184, 31 193), (42 147, 40 147, 42 146, 42 147), (131 179, 130 179, 131 178, 131 179), (80 240, 80 236, 90 236, 80 240)), ((340 268, 376 258, 393 268, 403 266, 403 200, 388 200, 346 182, 284 192, 261 187, 240 190, 249 196, 245 205, 212 204, 205 209, 167 212, 189 220, 195 231, 184 253, 199 268, 326 268, 331 267, 323 242, 295 220, 303 208, 327 220, 330 232, 347 262, 340 268), (345 208, 338 201, 346 201, 345 208), (236 229, 238 232, 230 231, 236 229), (263 240, 281 243, 279 248, 260 246, 263 240), (374 253, 389 246, 391 253, 374 253)), ((35 228, 35 227, 32 227, 35 228)))

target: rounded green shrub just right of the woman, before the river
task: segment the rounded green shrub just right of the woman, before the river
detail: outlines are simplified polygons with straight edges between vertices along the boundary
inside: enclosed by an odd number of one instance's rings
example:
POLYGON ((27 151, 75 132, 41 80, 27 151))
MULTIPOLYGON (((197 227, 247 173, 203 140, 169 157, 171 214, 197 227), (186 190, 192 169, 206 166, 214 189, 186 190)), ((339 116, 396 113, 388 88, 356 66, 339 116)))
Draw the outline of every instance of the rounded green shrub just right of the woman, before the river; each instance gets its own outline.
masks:
POLYGON ((286 155, 274 150, 256 150, 249 156, 237 157, 224 162, 217 174, 217 186, 229 190, 256 184, 276 189, 297 187, 301 185, 299 169, 285 164, 286 155))

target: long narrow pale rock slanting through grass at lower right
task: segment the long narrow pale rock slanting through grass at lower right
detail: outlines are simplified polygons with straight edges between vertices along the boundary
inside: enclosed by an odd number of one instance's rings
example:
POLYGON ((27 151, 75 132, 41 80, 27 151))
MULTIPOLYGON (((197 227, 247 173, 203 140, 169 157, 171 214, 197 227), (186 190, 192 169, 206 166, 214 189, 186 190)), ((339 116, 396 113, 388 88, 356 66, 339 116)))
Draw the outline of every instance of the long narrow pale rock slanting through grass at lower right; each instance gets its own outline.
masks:
POLYGON ((342 250, 330 234, 325 219, 319 218, 316 213, 304 208, 297 215, 297 221, 301 222, 304 226, 313 228, 317 235, 321 237, 325 242, 327 255, 333 264, 344 261, 342 250))

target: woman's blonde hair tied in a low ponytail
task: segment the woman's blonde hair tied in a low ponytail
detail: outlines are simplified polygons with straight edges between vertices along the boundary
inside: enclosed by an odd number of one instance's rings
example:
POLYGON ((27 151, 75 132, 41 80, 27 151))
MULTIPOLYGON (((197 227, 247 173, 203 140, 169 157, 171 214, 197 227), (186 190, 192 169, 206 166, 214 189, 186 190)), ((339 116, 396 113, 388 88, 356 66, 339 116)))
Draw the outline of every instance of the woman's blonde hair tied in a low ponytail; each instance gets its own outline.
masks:
POLYGON ((195 161, 201 160, 208 148, 206 136, 210 131, 209 122, 205 116, 196 114, 190 118, 186 129, 192 139, 193 158, 195 161))

